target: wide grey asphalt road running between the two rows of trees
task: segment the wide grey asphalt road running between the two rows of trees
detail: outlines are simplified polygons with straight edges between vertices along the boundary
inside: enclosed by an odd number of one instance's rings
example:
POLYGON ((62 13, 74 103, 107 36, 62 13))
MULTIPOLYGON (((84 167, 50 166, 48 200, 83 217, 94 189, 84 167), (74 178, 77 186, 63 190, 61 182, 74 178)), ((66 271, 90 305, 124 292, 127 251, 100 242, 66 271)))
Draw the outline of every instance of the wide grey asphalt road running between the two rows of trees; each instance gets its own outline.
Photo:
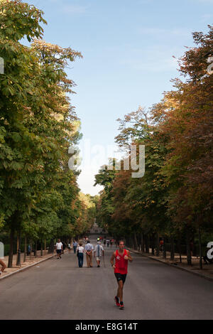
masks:
POLYGON ((73 252, 49 259, 0 283, 0 319, 212 319, 213 283, 132 254, 124 310, 114 305, 116 279, 105 264, 78 268, 73 252))

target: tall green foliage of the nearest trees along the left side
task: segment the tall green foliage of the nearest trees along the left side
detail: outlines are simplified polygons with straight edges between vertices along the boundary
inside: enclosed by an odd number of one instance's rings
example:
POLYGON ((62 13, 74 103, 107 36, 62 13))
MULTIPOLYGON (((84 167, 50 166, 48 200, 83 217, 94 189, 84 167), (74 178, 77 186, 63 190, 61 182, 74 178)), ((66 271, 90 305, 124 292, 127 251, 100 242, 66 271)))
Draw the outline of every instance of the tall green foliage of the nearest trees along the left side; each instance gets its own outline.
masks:
POLYGON ((34 6, 1 1, 0 15, 0 227, 33 239, 72 235, 79 188, 68 149, 81 134, 65 68, 82 55, 40 41, 46 22, 34 6))

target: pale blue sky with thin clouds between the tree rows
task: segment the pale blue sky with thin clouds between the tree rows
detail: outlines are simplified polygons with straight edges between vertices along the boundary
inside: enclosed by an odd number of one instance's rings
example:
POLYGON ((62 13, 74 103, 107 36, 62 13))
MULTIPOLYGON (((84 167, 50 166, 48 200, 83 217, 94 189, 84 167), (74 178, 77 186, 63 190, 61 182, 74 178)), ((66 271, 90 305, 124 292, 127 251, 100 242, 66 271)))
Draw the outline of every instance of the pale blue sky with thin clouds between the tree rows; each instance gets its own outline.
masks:
POLYGON ((194 45, 192 32, 212 25, 213 0, 26 2, 44 11, 46 42, 83 55, 67 75, 77 84, 71 104, 82 122, 78 183, 83 193, 96 195, 102 187, 93 186, 94 175, 116 150, 116 119, 139 106, 148 109, 173 88, 177 60, 194 45))

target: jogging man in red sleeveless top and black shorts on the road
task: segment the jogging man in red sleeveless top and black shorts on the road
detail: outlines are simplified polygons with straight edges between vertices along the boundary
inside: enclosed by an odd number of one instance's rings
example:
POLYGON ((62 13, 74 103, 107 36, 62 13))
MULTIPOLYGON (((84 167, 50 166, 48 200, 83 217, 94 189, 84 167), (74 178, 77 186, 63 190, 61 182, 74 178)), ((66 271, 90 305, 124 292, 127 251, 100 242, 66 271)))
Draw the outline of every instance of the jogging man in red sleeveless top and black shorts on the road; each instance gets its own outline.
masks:
POLYGON ((114 268, 114 274, 116 276, 116 280, 118 282, 118 291, 114 300, 116 302, 116 306, 119 306, 120 310, 124 309, 124 301, 123 301, 123 289, 124 282, 126 280, 128 260, 132 262, 131 254, 129 250, 124 249, 124 242, 122 240, 119 241, 119 249, 111 255, 110 263, 114 268), (114 264, 115 259, 115 264, 114 264), (120 300, 120 301, 119 301, 120 300))

